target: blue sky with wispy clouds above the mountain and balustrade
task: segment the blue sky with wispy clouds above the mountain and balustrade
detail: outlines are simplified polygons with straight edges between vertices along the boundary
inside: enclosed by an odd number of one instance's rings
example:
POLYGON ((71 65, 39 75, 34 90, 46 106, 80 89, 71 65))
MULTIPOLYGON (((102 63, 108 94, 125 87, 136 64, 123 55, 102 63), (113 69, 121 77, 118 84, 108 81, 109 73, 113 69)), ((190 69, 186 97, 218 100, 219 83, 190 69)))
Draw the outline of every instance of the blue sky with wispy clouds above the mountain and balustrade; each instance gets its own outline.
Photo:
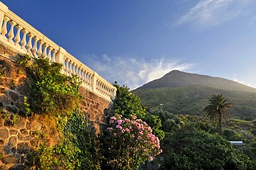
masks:
POLYGON ((256 87, 255 0, 2 0, 110 83, 172 70, 256 87))

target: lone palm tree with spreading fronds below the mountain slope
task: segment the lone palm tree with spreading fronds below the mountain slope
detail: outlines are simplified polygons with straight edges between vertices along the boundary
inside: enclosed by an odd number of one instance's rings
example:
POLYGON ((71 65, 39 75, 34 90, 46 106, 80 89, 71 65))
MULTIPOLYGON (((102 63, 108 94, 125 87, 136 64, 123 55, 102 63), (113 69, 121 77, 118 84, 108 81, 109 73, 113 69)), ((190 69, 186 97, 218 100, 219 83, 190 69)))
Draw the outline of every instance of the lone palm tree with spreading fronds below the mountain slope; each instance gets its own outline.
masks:
POLYGON ((210 121, 217 121, 219 118, 219 134, 222 136, 221 121, 223 118, 229 118, 228 108, 232 107, 232 103, 226 103, 226 96, 222 94, 214 95, 209 98, 209 105, 205 107, 203 112, 207 117, 210 117, 210 121))

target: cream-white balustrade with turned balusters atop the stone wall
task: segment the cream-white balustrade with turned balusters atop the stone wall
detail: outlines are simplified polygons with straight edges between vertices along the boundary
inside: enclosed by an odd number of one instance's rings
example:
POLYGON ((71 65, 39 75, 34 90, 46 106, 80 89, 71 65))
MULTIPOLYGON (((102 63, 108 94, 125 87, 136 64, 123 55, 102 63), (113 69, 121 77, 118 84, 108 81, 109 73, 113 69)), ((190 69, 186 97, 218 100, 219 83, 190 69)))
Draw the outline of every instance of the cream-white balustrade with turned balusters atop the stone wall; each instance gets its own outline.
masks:
POLYGON ((26 23, 26 21, 10 11, 8 7, 1 2, 0 34, 0 41, 10 45, 10 47, 15 48, 15 50, 21 53, 28 53, 30 56, 35 57, 42 55, 44 58, 48 58, 51 63, 62 63, 63 74, 68 76, 77 75, 82 82, 82 86, 91 90, 98 96, 106 100, 111 100, 111 98, 116 95, 116 87, 113 87, 111 83, 105 81, 104 78, 99 76, 96 72, 78 61, 74 56, 66 52, 64 48, 26 23), (6 34, 8 37, 6 37, 6 34), (39 47, 37 47, 37 43, 39 47))

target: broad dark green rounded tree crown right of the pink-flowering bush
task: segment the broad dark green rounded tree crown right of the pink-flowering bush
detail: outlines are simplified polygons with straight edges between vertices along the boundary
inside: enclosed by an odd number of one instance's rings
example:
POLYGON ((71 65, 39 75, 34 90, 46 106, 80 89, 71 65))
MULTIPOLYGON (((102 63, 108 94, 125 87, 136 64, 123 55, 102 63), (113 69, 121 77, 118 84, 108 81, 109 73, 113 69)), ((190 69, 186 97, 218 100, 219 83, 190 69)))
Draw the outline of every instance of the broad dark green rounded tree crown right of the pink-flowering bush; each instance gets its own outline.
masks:
POLYGON ((228 140, 199 129, 182 128, 163 140, 161 169, 253 169, 228 140))

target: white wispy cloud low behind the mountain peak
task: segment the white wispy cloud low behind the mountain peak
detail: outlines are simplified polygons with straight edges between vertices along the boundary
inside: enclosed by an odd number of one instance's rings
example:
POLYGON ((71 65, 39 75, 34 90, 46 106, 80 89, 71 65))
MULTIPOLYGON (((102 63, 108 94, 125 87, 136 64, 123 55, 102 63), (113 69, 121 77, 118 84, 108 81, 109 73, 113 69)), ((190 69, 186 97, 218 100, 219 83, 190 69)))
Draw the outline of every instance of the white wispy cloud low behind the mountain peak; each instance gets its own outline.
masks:
POLYGON ((102 60, 91 61, 92 69, 107 81, 111 83, 118 81, 120 85, 127 84, 130 89, 161 78, 172 70, 185 71, 194 66, 192 63, 179 63, 178 60, 145 61, 121 56, 111 57, 111 59, 108 56, 109 60, 105 60, 106 56, 103 55, 102 60))

